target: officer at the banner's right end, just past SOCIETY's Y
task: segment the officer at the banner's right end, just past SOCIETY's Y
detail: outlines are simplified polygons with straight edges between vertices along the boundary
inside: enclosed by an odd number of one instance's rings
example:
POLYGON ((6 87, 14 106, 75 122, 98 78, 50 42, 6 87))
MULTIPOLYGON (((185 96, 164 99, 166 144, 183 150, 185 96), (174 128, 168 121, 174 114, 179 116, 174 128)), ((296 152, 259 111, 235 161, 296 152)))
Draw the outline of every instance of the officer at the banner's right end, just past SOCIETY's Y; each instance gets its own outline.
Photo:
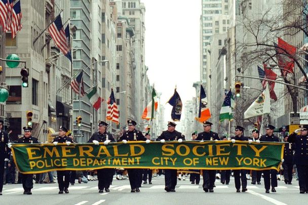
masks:
MULTIPOLYGON (((279 138, 273 134, 275 127, 266 125, 266 135, 260 137, 261 142, 279 142, 279 138)), ((263 170, 265 193, 270 193, 270 186, 272 185, 272 192, 276 192, 275 187, 278 186, 277 171, 263 170)))

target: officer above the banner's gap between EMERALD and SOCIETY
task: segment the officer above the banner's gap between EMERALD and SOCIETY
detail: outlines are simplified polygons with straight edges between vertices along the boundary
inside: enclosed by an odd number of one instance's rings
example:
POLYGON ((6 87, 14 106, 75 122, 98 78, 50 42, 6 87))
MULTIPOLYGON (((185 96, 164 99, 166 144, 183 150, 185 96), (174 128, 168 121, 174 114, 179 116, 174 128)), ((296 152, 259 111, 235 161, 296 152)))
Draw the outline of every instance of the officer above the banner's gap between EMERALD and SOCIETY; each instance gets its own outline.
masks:
MULTIPOLYGON (((118 142, 123 142, 124 144, 127 141, 146 141, 150 143, 149 140, 146 140, 141 131, 136 130, 137 122, 134 120, 127 120, 128 130, 123 133, 118 142)), ((142 182, 142 169, 127 169, 129 183, 131 185, 131 192, 140 192, 139 187, 142 182), (141 181, 141 182, 140 182, 141 181)))

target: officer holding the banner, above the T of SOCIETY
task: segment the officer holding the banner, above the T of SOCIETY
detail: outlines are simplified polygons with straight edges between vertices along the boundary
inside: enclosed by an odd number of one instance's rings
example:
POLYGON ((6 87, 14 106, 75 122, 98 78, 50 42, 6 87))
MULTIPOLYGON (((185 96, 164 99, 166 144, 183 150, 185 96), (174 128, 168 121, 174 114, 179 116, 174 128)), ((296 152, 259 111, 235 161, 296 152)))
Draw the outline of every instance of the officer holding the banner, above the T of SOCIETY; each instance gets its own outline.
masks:
MULTIPOLYGON (((248 137, 243 136, 244 128, 241 126, 236 126, 235 128, 235 136, 231 138, 231 141, 235 143, 238 141, 248 141, 248 137)), ((252 140, 249 140, 249 143, 251 143, 252 140)), ((237 189, 237 192, 240 192, 241 188, 241 181, 242 181, 242 192, 247 191, 247 170, 234 170, 234 181, 235 181, 235 188, 237 189), (240 176, 241 175, 241 176, 240 176)))

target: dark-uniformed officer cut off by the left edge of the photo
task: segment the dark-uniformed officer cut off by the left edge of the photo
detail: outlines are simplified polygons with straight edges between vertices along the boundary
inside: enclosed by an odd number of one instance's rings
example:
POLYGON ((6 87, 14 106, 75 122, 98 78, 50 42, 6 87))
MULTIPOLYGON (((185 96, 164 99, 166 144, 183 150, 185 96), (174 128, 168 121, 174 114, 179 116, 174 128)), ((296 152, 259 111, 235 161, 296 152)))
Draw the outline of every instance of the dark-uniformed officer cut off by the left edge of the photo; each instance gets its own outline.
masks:
POLYGON ((10 151, 8 147, 8 143, 10 142, 9 136, 8 133, 2 130, 2 127, 3 127, 3 121, 0 120, 0 195, 2 195, 2 189, 3 189, 5 160, 9 161, 9 151, 10 151))

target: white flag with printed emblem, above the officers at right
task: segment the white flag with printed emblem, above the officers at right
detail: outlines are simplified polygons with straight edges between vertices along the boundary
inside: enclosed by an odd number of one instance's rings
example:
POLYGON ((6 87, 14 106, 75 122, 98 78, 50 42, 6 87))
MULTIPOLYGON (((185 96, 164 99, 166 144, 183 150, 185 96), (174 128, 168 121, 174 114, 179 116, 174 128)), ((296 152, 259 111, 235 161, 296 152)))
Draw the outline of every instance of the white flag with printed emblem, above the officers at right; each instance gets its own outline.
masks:
POLYGON ((271 112, 271 99, 270 91, 268 90, 268 84, 265 90, 259 95, 259 97, 249 106, 244 113, 244 118, 254 117, 271 112))

